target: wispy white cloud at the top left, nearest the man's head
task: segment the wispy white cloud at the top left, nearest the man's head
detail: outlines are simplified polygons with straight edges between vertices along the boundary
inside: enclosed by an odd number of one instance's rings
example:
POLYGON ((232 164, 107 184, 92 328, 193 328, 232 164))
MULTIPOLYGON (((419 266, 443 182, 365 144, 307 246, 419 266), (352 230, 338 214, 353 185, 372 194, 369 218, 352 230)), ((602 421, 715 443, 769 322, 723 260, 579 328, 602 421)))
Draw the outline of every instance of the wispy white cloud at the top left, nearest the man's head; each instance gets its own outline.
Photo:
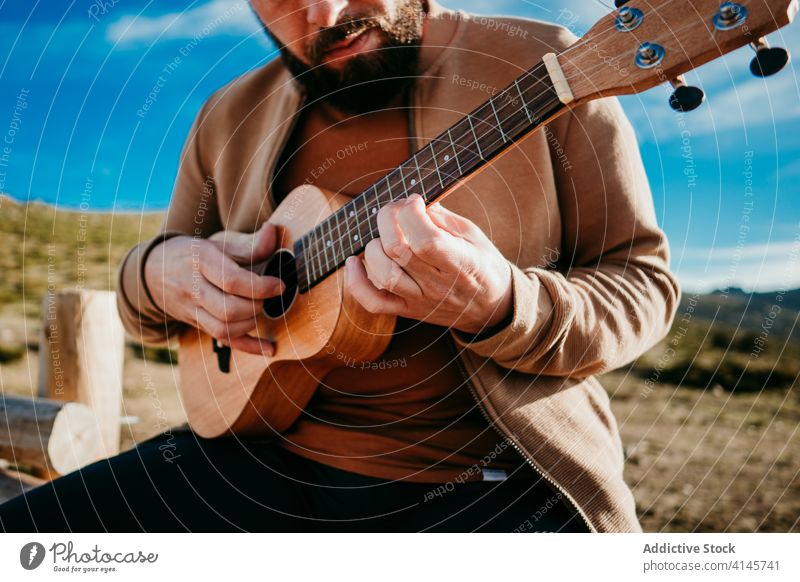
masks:
POLYGON ((211 0, 183 12, 156 17, 125 15, 106 29, 106 39, 122 45, 142 45, 197 36, 249 35, 261 30, 247 0, 211 0))

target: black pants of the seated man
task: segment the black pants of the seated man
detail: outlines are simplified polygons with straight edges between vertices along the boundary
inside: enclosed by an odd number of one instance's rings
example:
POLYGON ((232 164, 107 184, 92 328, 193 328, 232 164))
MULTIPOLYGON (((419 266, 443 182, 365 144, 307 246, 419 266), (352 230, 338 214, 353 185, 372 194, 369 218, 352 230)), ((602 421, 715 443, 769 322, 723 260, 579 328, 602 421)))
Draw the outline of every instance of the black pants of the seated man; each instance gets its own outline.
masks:
POLYGON ((420 484, 166 432, 0 505, 7 532, 586 531, 544 481, 420 484))

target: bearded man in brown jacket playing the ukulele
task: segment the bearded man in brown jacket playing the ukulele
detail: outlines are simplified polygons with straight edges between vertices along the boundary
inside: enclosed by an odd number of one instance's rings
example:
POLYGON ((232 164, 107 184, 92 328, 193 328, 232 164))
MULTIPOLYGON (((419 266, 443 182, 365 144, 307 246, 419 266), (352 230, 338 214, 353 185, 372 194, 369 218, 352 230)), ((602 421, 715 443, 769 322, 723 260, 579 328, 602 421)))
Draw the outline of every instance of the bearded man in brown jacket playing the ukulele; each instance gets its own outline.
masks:
MULTIPOLYGON (((252 7, 281 59, 206 102, 162 233, 120 268, 144 342, 191 325, 271 354, 248 333, 280 283, 243 265, 276 250, 265 221, 282 198, 303 183, 358 195, 574 41, 425 0, 252 7)), ((182 431, 168 459, 161 435, 6 504, 4 527, 639 531, 593 375, 662 338, 679 291, 616 102, 561 116, 441 204, 384 206, 378 225, 345 288, 398 316, 382 365, 330 372, 281 438, 182 431)))

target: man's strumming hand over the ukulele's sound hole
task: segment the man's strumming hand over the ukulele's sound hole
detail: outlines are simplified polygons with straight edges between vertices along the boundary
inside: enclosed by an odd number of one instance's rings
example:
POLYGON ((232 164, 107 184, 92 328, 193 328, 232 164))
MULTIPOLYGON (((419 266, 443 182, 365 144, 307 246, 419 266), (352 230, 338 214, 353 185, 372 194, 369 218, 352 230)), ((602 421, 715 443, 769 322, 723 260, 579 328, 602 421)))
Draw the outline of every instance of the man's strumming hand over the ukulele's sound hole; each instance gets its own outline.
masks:
POLYGON ((145 263, 145 283, 156 305, 234 349, 275 353, 267 340, 248 336, 264 299, 280 295, 277 277, 262 277, 250 266, 275 252, 277 232, 265 222, 253 234, 221 231, 208 239, 178 236, 156 246, 145 263))

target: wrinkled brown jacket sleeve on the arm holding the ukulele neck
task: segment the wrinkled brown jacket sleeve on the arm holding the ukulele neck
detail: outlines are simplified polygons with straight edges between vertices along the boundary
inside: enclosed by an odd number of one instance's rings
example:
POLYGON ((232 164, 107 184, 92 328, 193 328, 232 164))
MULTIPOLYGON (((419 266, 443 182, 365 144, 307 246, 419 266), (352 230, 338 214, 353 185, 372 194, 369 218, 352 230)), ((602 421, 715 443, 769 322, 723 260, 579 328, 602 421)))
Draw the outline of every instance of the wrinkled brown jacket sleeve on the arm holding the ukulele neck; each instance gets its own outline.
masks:
POLYGON ((633 128, 618 101, 578 106, 552 126, 559 267, 509 261, 511 317, 478 335, 450 331, 459 347, 505 368, 585 377, 623 366, 662 339, 680 290, 633 128), (554 147, 563 149, 568 166, 556 161, 554 147))

